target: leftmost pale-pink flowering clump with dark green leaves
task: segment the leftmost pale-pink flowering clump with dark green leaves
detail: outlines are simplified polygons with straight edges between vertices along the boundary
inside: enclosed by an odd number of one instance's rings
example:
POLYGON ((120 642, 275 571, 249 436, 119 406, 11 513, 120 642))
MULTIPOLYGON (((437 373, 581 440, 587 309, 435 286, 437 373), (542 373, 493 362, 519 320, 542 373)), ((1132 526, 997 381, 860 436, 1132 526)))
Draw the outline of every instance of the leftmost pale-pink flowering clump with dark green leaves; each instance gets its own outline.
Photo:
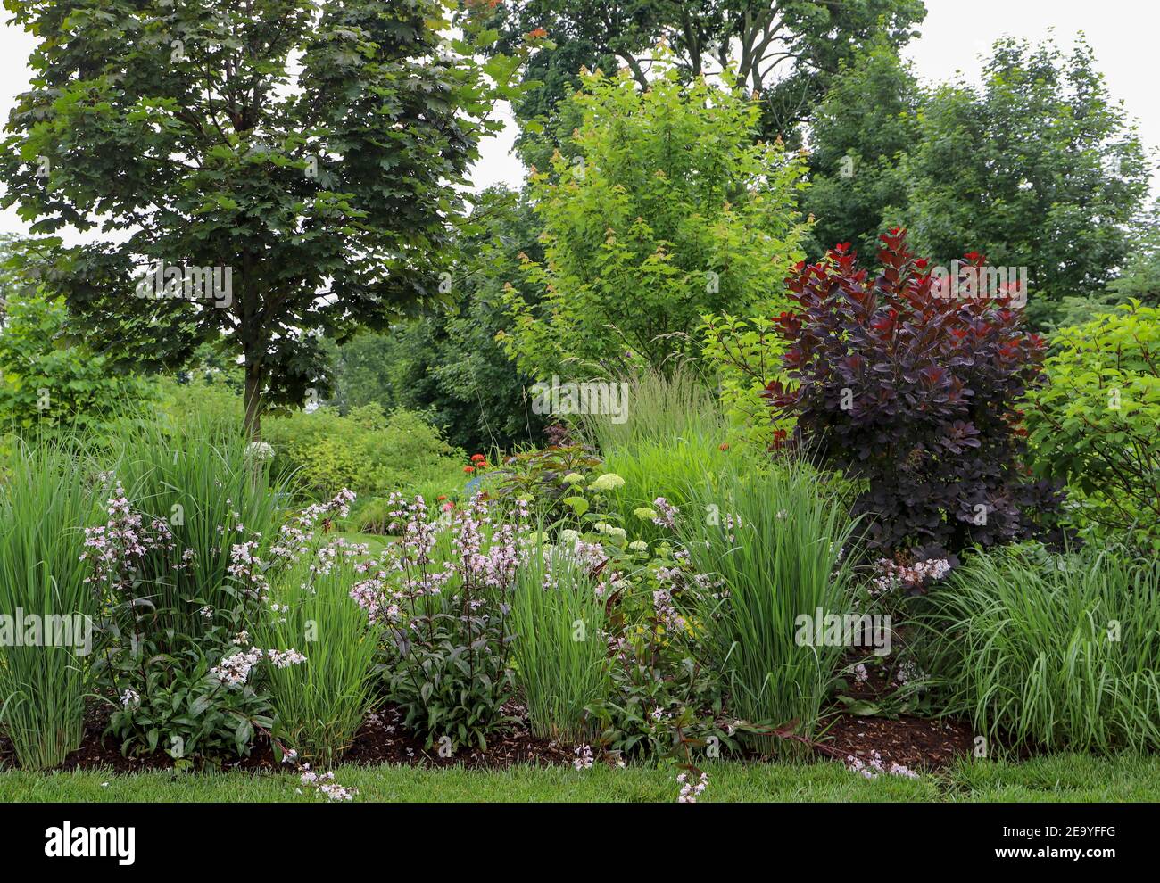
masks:
MULTIPOLYGON (((176 540, 168 521, 145 518, 113 476, 108 519, 85 532, 82 560, 92 568, 86 578, 102 600, 99 662, 94 664, 99 693, 116 695, 107 732, 121 739, 123 753, 151 753, 159 747, 182 764, 219 762, 248 754, 258 731, 275 724, 270 694, 253 672, 269 666, 283 670, 306 657, 297 649, 252 647, 247 625, 271 604, 267 572, 281 562, 299 559, 313 542, 313 526, 326 515, 346 511, 353 498, 341 494, 325 505, 311 506, 288 523, 276 541, 246 533, 235 512, 210 535, 229 546, 223 586, 204 586, 203 597, 230 599, 229 607, 203 605, 204 620, 196 630, 180 630, 181 611, 159 601, 175 599, 172 591, 145 581, 145 563, 174 556, 176 540), (237 540, 237 542, 231 542, 237 540), (263 560, 258 553, 268 550, 263 560)), ((176 576, 187 575, 200 559, 218 549, 187 546, 176 556, 176 576)), ((264 554, 264 553, 263 553, 264 554)), ((277 611, 275 611, 277 612, 277 611)), ((285 612, 284 610, 282 612, 285 612)))

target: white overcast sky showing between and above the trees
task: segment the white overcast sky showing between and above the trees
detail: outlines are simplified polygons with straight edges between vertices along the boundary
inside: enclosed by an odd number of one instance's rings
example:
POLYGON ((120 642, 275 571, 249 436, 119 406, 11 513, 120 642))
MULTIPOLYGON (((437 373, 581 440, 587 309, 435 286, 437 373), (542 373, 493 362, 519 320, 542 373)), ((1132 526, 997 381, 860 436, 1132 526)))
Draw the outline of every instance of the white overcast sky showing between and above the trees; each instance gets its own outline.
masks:
MULTIPOLYGON (((1160 146, 1160 93, 1155 32, 1160 0, 926 0, 922 36, 906 56, 926 80, 947 80, 962 71, 978 80, 980 53, 1000 36, 1038 41, 1053 35, 1070 49, 1083 31, 1114 98, 1122 100, 1147 148, 1160 146)), ((7 13, 0 12, 7 20, 7 13)), ((0 24, 0 122, 6 123, 15 96, 27 88, 32 37, 5 21, 0 24)), ((512 152, 513 126, 486 141, 472 181, 519 187, 524 170, 512 152)), ((1153 191, 1160 175, 1153 176, 1153 191)), ((0 232, 27 233, 14 210, 0 212, 0 232)), ((66 239, 73 239, 67 236, 66 239)))

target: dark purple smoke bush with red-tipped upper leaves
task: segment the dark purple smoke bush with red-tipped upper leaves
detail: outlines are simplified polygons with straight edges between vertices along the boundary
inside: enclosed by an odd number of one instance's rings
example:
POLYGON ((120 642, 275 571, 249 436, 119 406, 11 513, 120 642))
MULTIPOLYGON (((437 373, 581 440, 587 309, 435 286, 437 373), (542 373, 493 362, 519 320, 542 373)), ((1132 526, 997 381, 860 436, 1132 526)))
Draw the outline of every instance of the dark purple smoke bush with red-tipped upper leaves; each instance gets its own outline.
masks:
POLYGON ((839 246, 788 280, 799 311, 777 319, 790 385, 768 387, 775 416, 796 416, 796 443, 867 482, 854 515, 871 517, 873 548, 1036 533, 1032 512, 1058 498, 1028 476, 1017 403, 1041 382, 1043 341, 1009 299, 934 297, 905 231, 882 242, 876 278, 839 246))

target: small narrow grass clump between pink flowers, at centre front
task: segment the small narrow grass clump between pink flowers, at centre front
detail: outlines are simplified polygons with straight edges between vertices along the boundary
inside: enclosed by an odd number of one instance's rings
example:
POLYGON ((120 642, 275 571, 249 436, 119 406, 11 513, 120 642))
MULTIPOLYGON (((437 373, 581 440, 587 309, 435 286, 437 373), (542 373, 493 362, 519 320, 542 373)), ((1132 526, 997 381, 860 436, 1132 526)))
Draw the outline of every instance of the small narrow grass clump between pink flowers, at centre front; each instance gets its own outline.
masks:
POLYGON ((561 548, 536 547, 516 571, 513 659, 532 735, 566 744, 595 735, 586 709, 611 692, 606 620, 595 582, 561 548))

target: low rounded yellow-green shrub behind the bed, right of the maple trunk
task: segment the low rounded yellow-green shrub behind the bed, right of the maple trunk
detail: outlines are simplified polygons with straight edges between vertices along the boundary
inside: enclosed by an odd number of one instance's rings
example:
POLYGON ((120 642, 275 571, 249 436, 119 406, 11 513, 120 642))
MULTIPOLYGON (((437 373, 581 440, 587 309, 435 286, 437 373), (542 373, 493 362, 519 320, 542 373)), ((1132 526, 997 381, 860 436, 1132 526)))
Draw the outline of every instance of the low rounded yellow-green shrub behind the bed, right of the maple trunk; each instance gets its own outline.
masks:
MULTIPOLYGON (((462 470, 465 457, 415 411, 386 416, 377 404, 297 411, 267 421, 275 470, 297 469, 303 489, 328 498, 343 488, 361 496, 386 496, 462 470)), ((462 479, 462 473, 459 475, 462 479)))

